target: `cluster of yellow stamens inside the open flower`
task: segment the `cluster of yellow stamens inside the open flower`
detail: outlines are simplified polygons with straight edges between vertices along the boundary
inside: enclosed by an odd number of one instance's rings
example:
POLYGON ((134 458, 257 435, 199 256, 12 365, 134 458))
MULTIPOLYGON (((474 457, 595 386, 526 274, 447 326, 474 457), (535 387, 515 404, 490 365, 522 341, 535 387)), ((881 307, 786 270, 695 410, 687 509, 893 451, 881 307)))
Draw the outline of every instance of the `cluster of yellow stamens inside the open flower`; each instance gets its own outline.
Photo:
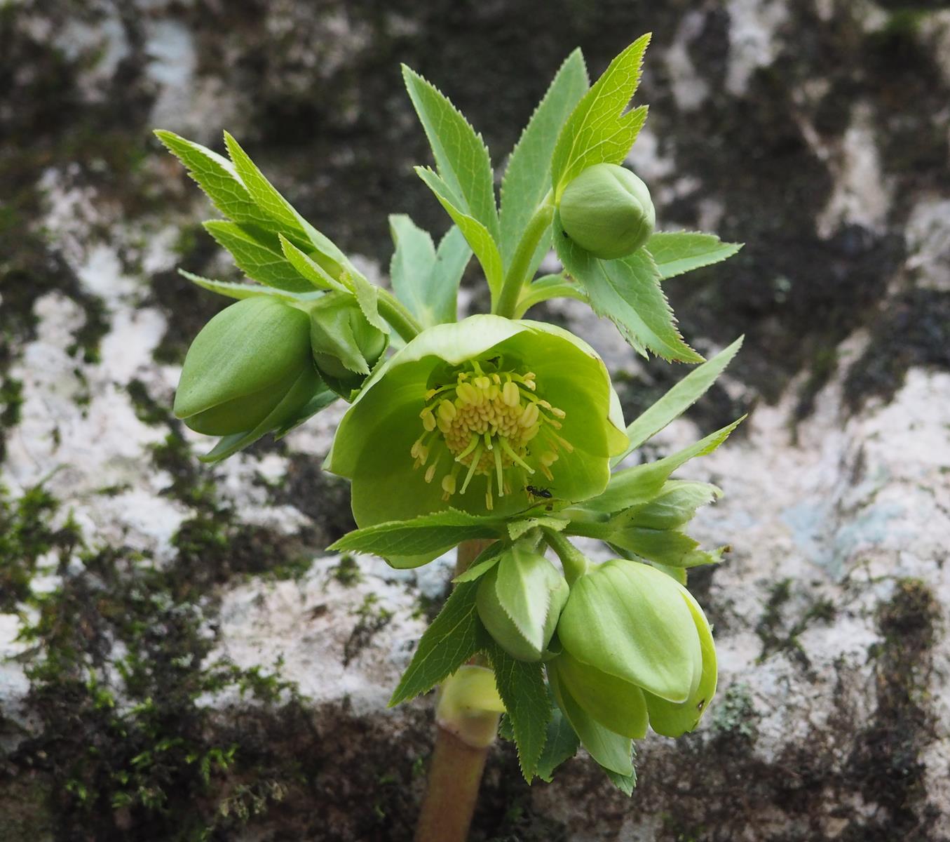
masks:
MULTIPOLYGON (((426 392, 419 413, 423 434, 413 443, 414 468, 426 469, 426 482, 443 465, 442 499, 465 494, 475 477, 485 477, 485 507, 511 493, 509 474, 523 479, 540 470, 553 480, 558 451, 574 450, 557 433, 564 412, 536 394, 533 372, 485 372, 489 363, 472 360, 454 380, 426 392), (465 470, 461 485, 459 475, 465 470)), ((530 487, 527 487, 530 488, 530 487)), ((549 495, 548 495, 549 496, 549 495)))

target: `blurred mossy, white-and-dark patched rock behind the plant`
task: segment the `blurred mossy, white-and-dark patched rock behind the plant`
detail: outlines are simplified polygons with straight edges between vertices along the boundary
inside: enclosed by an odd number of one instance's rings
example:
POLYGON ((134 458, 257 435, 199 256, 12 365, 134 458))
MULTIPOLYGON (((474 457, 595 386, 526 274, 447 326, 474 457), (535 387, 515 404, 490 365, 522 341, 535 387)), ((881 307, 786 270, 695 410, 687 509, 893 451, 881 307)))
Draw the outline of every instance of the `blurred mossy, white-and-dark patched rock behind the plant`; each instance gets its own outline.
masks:
MULTIPOLYGON (((228 128, 385 277, 387 215, 441 232, 399 62, 496 164, 561 60, 644 30, 630 158, 660 224, 747 243, 668 292, 724 383, 651 443, 744 411, 683 475, 731 555, 691 584, 721 691, 639 747, 626 799, 512 748, 475 840, 950 838, 950 10, 864 0, 0 2, 0 838, 408 839, 429 704, 385 708, 446 564, 328 556, 338 412, 215 469, 170 415, 236 278, 153 127, 228 128)), ((475 286, 475 277, 468 284, 475 286)), ((475 296, 472 307, 480 306, 475 296)), ((571 306, 631 417, 684 373, 571 306)))

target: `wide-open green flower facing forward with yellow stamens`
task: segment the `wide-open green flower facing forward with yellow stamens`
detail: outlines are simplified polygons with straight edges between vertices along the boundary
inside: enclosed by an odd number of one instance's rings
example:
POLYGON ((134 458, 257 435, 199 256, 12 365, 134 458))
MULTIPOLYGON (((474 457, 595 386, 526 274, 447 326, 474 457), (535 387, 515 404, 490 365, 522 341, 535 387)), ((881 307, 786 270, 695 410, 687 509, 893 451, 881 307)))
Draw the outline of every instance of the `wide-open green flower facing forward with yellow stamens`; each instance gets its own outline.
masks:
POLYGON ((366 381, 327 457, 358 526, 448 507, 505 516, 526 490, 584 500, 625 449, 603 362, 561 328, 469 316, 416 336, 366 381))

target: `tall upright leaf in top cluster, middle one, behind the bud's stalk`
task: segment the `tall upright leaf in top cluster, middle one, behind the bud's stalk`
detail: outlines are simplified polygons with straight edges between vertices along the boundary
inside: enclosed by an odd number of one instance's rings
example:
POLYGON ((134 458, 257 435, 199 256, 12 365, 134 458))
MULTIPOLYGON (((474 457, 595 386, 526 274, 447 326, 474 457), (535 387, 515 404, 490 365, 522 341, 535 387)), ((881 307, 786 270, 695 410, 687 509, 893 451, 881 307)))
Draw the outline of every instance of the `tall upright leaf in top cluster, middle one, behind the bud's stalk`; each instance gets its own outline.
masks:
POLYGON ((515 145, 502 181, 501 252, 511 262, 528 220, 551 186, 551 156, 561 126, 587 90, 580 49, 561 65, 515 145))

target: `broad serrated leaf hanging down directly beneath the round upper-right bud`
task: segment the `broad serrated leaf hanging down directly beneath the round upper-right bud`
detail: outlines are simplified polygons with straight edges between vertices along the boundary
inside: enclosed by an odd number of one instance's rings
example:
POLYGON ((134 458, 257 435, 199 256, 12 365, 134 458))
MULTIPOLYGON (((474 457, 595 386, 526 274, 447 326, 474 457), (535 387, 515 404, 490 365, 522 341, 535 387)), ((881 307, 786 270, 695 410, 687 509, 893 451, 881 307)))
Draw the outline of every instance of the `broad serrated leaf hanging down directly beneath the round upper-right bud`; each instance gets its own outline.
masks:
POLYGON ((598 316, 607 316, 623 337, 646 356, 680 362, 702 362, 676 328, 673 310, 660 288, 653 259, 642 249, 618 260, 601 260, 575 245, 554 215, 554 242, 564 268, 584 287, 598 316))

